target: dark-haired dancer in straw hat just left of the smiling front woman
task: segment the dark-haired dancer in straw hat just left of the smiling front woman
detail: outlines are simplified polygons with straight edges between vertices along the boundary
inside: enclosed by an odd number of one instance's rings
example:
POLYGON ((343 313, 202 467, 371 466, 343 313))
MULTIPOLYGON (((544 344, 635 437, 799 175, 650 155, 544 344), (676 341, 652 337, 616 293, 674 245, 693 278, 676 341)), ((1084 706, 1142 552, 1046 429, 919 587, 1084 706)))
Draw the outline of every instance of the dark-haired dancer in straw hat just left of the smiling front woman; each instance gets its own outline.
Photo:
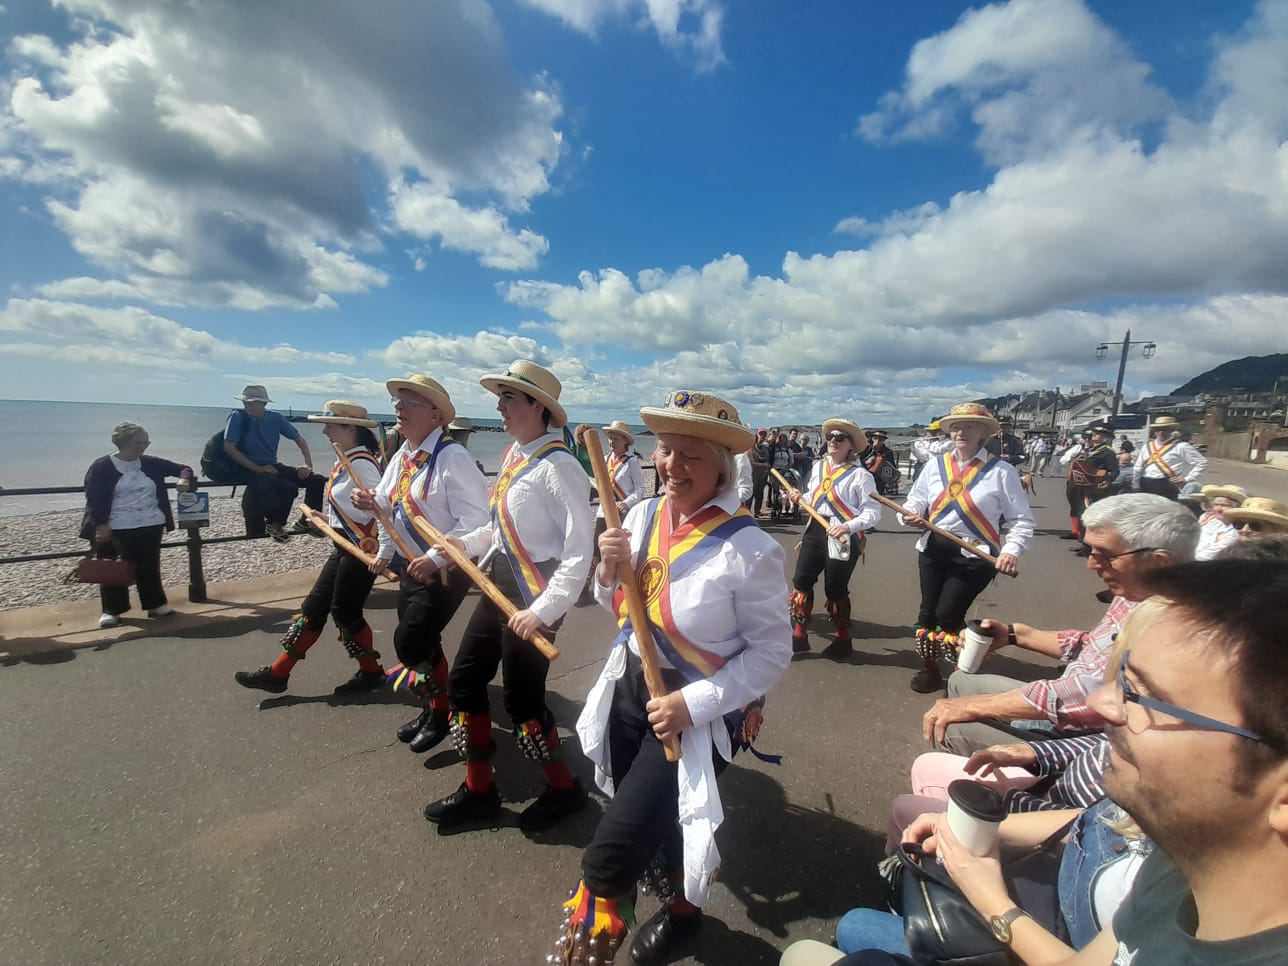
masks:
POLYGON ((501 425, 514 442, 492 489, 491 518, 459 540, 470 556, 487 553, 491 578, 518 608, 506 616, 479 600, 448 677, 452 741, 465 759, 465 782, 425 806, 442 835, 492 824, 501 793, 492 778, 492 712, 488 684, 501 668, 505 712, 523 753, 541 764, 546 788, 519 815, 524 831, 549 828, 586 804, 586 790, 564 762, 555 717, 546 705, 550 663, 529 641, 553 640, 590 569, 594 518, 590 480, 560 431, 568 415, 554 374, 519 359, 501 375, 479 380, 497 395, 501 425))

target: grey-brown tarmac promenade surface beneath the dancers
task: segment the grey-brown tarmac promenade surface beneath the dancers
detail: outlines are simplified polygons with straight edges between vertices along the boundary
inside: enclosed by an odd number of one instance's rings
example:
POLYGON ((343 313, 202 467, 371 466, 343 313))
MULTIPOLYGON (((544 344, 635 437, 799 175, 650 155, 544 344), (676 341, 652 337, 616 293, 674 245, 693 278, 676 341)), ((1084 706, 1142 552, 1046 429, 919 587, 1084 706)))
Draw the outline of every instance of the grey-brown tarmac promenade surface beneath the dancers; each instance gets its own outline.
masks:
MULTIPOLYGON (((1213 461, 1208 475, 1288 496, 1288 473, 1213 461)), ((1039 529, 1021 574, 996 581, 978 616, 1090 627, 1100 583, 1057 540, 1063 480, 1039 479, 1033 505, 1039 529)), ((799 528, 766 528, 791 568, 799 528)), ((464 769, 438 748, 426 770, 394 739, 413 714, 399 697, 332 698, 352 665, 330 630, 286 694, 233 684, 234 670, 277 653, 312 578, 211 585, 201 607, 175 594, 180 613, 165 623, 112 631, 88 630, 91 601, 0 614, 0 962, 544 961, 599 802, 526 837, 513 822, 540 772, 498 730, 511 826, 442 837, 420 809, 464 769)), ((908 690, 913 535, 890 514, 851 586, 853 659, 818 657, 828 627, 815 617, 815 653, 769 697, 759 747, 783 764, 739 756, 721 779, 721 881, 696 954, 680 962, 775 963, 791 940, 829 939, 848 908, 881 899, 873 866, 889 801, 925 750, 930 705, 908 690)), ((367 612, 386 658, 394 599, 377 589, 367 612)), ((475 599, 448 631, 448 654, 475 599)), ((574 609, 559 635, 550 692, 565 733, 612 635, 599 608, 574 609)), ((1051 672, 1012 649, 985 670, 1051 672)), ((590 784, 586 761, 571 757, 590 784)), ((652 911, 641 900, 640 916, 652 911)))

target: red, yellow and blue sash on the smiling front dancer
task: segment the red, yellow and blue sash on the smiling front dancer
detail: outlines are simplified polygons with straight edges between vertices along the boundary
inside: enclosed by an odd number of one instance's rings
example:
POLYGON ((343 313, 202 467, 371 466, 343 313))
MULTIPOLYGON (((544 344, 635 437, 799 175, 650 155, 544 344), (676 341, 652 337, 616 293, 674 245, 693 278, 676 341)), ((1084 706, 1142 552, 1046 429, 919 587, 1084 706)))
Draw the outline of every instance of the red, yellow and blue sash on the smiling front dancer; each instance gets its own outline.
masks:
MULTIPOLYGON (((734 533, 755 527, 756 520, 742 507, 729 514, 708 506, 672 531, 666 497, 648 502, 644 520, 647 536, 635 558, 635 576, 653 625, 653 640, 687 681, 710 677, 729 658, 705 650, 680 634, 671 611, 671 585, 708 560, 734 533)), ((621 627, 617 643, 625 643, 632 629, 621 587, 613 592, 613 612, 621 627)))

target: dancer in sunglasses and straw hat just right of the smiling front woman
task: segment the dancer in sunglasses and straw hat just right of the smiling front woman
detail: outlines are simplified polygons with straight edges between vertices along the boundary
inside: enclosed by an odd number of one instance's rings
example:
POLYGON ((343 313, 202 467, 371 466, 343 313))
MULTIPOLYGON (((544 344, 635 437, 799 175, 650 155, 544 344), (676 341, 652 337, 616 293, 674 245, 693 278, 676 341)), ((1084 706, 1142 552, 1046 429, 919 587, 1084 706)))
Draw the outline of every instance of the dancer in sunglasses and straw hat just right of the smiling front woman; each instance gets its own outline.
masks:
POLYGON ((863 553, 866 531, 881 520, 881 507, 873 498, 876 480, 858 459, 868 446, 858 424, 829 419, 823 424, 823 439, 827 453, 814 464, 808 495, 784 483, 787 498, 804 506, 810 516, 796 556, 788 612, 792 618, 792 650, 809 650, 814 585, 822 573, 827 614, 836 627, 836 638, 823 649, 823 656, 842 659, 854 649, 850 640, 850 577, 863 553))

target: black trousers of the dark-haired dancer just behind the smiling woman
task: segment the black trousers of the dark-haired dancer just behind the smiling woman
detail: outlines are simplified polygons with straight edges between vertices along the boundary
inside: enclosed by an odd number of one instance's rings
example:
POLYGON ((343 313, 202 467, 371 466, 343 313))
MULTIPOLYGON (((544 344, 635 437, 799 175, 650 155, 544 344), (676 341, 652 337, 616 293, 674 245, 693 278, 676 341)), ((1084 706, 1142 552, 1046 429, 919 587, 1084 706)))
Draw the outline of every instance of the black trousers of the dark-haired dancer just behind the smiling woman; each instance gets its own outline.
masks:
MULTIPOLYGON (((544 560, 537 564, 542 574, 550 576, 559 565, 558 560, 544 560)), ((514 572, 504 556, 497 556, 492 564, 492 582, 510 601, 523 608, 523 596, 515 583, 514 572)), ((559 630, 563 618, 555 621, 555 627, 544 631, 554 643, 554 631, 559 630)), ((452 672, 447 679, 447 693, 452 707, 468 715, 482 715, 488 711, 487 685, 501 668, 501 683, 505 692, 505 714, 515 724, 537 719, 550 728, 554 716, 546 708, 546 675, 550 662, 545 654, 532 647, 531 641, 518 636, 506 627, 506 617, 501 609, 482 598, 470 616, 461 640, 461 649, 452 662, 452 672)))

